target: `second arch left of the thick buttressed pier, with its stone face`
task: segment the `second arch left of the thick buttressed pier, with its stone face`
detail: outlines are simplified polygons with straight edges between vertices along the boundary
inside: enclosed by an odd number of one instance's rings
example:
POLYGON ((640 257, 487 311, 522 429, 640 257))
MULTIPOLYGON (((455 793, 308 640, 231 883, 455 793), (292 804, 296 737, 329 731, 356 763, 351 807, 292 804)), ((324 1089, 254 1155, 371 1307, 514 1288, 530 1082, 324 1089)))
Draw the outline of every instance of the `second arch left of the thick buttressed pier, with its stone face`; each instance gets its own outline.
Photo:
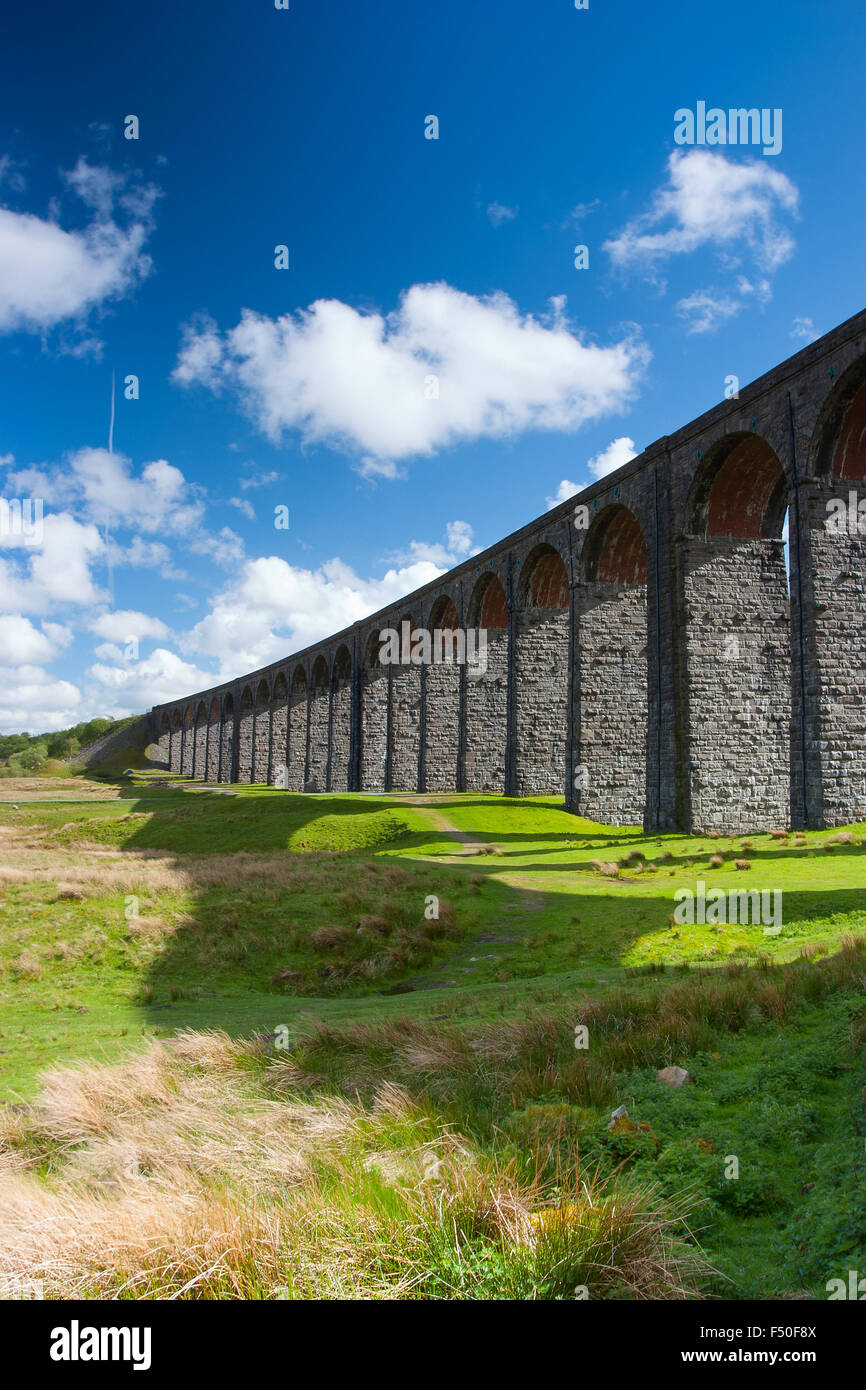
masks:
POLYGON ((546 541, 520 567, 514 624, 513 737, 509 791, 566 790, 569 719, 569 571, 546 541))

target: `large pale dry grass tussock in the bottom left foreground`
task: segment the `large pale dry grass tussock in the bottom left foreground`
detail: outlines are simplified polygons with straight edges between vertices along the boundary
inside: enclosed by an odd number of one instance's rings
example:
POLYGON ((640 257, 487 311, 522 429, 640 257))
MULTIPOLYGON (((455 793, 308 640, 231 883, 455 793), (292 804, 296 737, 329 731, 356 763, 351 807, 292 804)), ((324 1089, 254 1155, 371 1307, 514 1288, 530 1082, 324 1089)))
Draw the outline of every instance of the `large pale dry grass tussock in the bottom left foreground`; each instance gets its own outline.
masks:
POLYGON ((393 1081, 310 1101, 261 1054, 183 1033, 0 1111, 0 1268, 51 1298, 695 1295, 683 1213, 577 1176, 550 1207, 393 1081))

